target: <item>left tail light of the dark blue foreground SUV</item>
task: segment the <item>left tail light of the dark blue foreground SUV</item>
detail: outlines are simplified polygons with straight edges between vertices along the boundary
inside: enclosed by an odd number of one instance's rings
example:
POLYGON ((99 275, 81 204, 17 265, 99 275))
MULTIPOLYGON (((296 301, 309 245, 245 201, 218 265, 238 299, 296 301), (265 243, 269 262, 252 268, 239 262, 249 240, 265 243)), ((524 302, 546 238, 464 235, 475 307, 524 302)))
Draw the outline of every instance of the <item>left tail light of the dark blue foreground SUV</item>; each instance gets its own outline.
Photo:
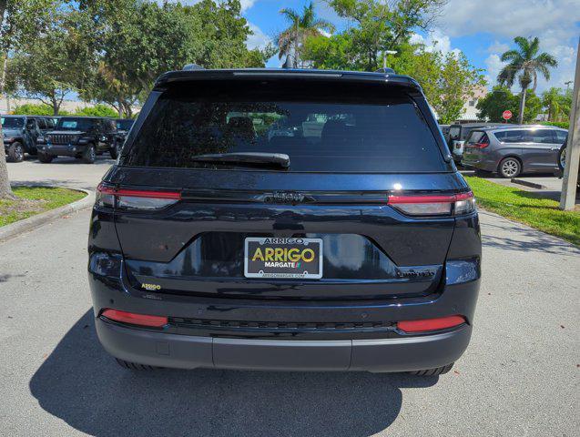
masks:
POLYGON ((150 191, 114 188, 105 184, 97 187, 97 207, 121 209, 162 209, 181 200, 176 191, 150 191))

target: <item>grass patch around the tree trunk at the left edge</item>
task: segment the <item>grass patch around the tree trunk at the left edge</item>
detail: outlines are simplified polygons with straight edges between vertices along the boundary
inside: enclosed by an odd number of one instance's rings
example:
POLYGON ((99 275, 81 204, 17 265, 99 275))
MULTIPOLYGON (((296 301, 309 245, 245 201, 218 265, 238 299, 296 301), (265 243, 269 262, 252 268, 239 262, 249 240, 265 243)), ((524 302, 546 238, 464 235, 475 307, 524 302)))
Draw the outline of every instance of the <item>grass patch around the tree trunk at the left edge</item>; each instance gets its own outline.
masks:
POLYGON ((86 196, 67 188, 15 187, 16 200, 0 200, 0 226, 62 207, 86 196))

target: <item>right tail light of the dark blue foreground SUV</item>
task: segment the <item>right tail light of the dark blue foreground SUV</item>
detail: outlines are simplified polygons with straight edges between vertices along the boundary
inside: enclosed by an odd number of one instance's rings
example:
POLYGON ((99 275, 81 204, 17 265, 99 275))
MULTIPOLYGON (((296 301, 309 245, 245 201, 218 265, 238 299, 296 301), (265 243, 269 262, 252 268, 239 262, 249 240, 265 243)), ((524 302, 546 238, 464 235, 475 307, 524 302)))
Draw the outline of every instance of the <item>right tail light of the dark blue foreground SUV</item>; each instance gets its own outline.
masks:
POLYGON ((389 196, 389 205, 408 216, 460 216, 475 210, 473 193, 389 196))

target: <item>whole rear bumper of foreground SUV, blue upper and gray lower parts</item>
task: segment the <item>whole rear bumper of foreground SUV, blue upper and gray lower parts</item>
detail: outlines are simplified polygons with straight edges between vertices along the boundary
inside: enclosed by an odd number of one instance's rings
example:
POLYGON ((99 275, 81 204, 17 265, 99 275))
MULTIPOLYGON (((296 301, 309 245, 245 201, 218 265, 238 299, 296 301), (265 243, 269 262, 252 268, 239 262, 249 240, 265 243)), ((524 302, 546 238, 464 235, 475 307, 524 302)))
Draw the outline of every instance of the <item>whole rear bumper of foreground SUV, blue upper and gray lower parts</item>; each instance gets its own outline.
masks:
MULTIPOLYGON (((451 272, 448 266, 448 283, 456 282, 451 272)), ((124 278, 92 272, 89 284, 98 338, 111 355, 125 361, 179 369, 388 372, 456 361, 471 337, 480 280, 446 285, 441 293, 414 299, 318 302, 168 295, 136 290, 124 278), (174 321, 161 330, 133 328, 102 319, 106 308, 165 315, 170 320, 222 320, 223 326, 174 321), (463 315, 467 323, 422 335, 405 335, 389 325, 453 314, 463 315), (236 320, 257 320, 264 327, 242 328, 236 320), (358 322, 361 329, 289 331, 276 322, 358 322), (372 322, 387 323, 377 329, 362 327, 372 322)))

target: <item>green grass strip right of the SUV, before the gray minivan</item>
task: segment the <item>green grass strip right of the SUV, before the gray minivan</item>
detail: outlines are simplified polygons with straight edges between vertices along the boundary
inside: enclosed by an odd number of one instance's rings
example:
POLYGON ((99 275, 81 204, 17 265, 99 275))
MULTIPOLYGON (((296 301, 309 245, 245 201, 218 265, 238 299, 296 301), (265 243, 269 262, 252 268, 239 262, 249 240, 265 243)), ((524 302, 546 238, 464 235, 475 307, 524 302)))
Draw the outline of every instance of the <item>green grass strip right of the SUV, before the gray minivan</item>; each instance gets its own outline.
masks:
POLYGON ((558 202, 482 178, 465 177, 478 205, 548 234, 580 245, 580 212, 562 211, 558 202))

